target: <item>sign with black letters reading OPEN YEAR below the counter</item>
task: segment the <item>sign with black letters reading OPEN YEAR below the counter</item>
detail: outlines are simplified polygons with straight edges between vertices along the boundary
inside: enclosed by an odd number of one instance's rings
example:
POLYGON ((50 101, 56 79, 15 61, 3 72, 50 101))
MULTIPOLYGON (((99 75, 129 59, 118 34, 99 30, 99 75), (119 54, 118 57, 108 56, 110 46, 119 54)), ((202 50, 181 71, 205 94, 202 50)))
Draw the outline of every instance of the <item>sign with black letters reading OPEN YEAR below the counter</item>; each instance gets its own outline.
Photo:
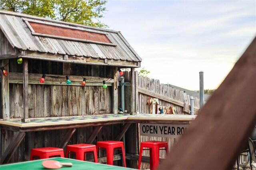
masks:
POLYGON ((188 125, 140 123, 140 135, 178 138, 184 134, 188 125))

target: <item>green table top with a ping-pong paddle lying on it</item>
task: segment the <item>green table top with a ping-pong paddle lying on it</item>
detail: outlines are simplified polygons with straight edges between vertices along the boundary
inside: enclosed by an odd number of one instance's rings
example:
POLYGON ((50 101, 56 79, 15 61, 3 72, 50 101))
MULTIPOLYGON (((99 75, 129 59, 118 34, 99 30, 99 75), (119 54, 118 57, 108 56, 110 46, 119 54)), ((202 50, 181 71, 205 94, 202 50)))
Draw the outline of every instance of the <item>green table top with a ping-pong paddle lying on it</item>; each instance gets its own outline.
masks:
MULTIPOLYGON (((50 160, 58 160, 59 162, 71 162, 73 164, 72 167, 63 166, 60 168, 61 170, 133 170, 132 168, 124 168, 121 166, 111 166, 106 164, 88 162, 88 161, 80 161, 69 158, 49 158, 50 160)), ((40 159, 33 161, 26 161, 14 164, 5 164, 0 166, 0 170, 46 170, 42 166, 42 162, 44 160, 49 159, 40 159)))

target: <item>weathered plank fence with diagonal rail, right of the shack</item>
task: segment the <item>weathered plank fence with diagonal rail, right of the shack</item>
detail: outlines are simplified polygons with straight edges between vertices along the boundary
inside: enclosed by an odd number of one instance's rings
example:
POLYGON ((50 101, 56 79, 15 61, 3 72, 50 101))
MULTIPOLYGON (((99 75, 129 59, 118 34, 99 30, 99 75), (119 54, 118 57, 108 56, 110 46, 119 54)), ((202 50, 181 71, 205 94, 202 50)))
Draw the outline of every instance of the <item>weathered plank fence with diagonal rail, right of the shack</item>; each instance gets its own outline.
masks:
MULTIPOLYGON (((142 90, 139 90, 139 111, 140 113, 150 113, 150 107, 147 105, 147 100, 150 94, 152 94, 152 97, 158 97, 159 98, 159 105, 160 106, 175 106, 176 110, 179 114, 186 114, 189 111, 190 106, 190 96, 184 93, 183 91, 180 91, 178 89, 169 87, 168 85, 160 84, 159 80, 154 80, 146 77, 140 77, 138 76, 138 83, 139 83, 139 89, 146 89, 150 92, 154 92, 156 94, 160 94, 159 96, 154 93, 142 93, 142 90), (154 95, 154 96, 153 96, 154 95), (167 97, 167 98, 164 98, 167 97), (160 98, 162 97, 162 98, 160 98), (167 102, 169 101, 169 102, 167 102)), ((194 107, 199 108, 199 99, 194 98, 194 107)), ((199 109, 197 109, 199 110, 199 109)), ((196 111, 196 109, 195 109, 196 111)), ((198 113, 198 111, 196 112, 198 113)), ((171 152, 172 147, 177 142, 177 139, 172 138, 164 138, 164 137, 147 137, 147 136, 140 136, 140 142, 143 141, 166 141, 168 142, 168 147, 171 152)), ((144 156, 149 156, 149 150, 144 150, 143 154, 144 156)), ((160 150, 160 158, 165 158, 166 154, 164 150, 160 150)), ((141 164, 141 169, 149 169, 150 164, 148 162, 143 162, 141 164)))

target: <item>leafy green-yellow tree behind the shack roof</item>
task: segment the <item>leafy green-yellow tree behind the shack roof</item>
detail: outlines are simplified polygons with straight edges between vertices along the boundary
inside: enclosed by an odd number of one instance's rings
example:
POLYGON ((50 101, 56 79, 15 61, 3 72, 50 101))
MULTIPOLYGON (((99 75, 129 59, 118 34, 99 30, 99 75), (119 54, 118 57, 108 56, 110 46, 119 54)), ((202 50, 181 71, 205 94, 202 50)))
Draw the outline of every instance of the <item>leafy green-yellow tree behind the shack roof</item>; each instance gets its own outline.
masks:
POLYGON ((107 27, 99 21, 106 0, 1 0, 0 9, 54 20, 107 27))

